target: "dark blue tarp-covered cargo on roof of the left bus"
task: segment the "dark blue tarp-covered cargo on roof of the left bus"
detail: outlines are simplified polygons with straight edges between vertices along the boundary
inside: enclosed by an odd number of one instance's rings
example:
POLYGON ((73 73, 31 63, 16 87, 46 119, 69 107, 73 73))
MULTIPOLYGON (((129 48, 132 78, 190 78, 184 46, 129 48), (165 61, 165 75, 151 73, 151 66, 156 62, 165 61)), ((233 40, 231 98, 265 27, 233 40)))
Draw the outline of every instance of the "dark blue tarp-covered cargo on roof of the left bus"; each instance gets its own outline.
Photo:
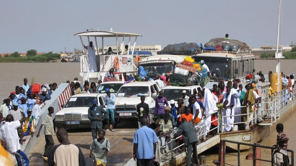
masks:
POLYGON ((196 43, 176 43, 169 44, 161 51, 157 51, 157 55, 193 55, 201 52, 201 48, 196 43))

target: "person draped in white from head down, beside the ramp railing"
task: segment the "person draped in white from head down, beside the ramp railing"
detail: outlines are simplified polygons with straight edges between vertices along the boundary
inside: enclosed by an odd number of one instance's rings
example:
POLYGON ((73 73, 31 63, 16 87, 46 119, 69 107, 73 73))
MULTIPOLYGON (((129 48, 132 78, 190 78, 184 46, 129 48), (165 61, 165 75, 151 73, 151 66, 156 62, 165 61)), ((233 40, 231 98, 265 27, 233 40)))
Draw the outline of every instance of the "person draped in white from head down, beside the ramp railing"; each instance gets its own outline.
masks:
MULTIPOLYGON (((205 132, 208 132, 210 130, 210 126, 211 126, 211 114, 218 110, 216 102, 213 98, 213 95, 210 91, 210 89, 205 88, 205 95, 204 95, 204 101, 203 101, 203 105, 205 106, 205 109, 203 109, 202 111, 202 123, 201 125, 205 124, 205 132)), ((204 127, 201 128, 202 133, 204 132, 204 127)))

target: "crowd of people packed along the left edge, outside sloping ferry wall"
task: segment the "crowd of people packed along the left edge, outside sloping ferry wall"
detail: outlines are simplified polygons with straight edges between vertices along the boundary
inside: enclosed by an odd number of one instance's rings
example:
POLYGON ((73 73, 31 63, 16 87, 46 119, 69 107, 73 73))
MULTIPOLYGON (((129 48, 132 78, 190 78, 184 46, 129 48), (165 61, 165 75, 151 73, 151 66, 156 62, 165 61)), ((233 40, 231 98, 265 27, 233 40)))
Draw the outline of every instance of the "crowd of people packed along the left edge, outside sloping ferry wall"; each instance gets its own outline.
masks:
MULTIPOLYGON (((51 99, 51 94, 57 88, 57 83, 52 84, 28 84, 28 79, 23 79, 24 84, 16 86, 3 104, 0 106, 0 139, 5 144, 10 154, 16 155, 11 162, 13 165, 20 164, 20 161, 28 165, 29 160, 20 145, 23 144, 24 136, 35 133, 36 124, 41 117, 40 105, 51 99)), ((44 103, 45 104, 45 103, 44 103)), ((40 130, 39 130, 40 131, 40 130)))

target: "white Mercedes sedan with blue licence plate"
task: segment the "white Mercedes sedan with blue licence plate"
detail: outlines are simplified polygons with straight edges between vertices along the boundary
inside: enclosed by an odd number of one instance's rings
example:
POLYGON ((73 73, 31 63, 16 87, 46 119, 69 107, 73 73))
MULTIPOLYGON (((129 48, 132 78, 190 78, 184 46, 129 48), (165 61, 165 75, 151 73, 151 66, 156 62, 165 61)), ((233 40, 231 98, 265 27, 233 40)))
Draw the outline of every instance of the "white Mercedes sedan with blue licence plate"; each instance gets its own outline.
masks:
POLYGON ((98 105, 103 106, 105 95, 91 93, 71 96, 63 109, 55 114, 55 126, 58 128, 89 128, 91 121, 88 118, 88 110, 92 106, 92 100, 96 99, 98 105))

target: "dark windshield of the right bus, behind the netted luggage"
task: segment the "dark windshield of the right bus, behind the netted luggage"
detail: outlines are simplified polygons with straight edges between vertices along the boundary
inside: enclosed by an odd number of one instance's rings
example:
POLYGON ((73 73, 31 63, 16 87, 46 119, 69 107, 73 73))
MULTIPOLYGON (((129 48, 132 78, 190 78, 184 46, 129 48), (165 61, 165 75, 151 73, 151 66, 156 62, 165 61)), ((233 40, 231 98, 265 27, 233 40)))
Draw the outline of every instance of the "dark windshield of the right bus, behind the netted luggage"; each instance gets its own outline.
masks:
POLYGON ((217 74, 217 77, 231 79, 231 58, 217 58, 204 56, 193 56, 193 58, 196 62, 204 60, 205 64, 209 67, 210 72, 215 72, 217 74))

